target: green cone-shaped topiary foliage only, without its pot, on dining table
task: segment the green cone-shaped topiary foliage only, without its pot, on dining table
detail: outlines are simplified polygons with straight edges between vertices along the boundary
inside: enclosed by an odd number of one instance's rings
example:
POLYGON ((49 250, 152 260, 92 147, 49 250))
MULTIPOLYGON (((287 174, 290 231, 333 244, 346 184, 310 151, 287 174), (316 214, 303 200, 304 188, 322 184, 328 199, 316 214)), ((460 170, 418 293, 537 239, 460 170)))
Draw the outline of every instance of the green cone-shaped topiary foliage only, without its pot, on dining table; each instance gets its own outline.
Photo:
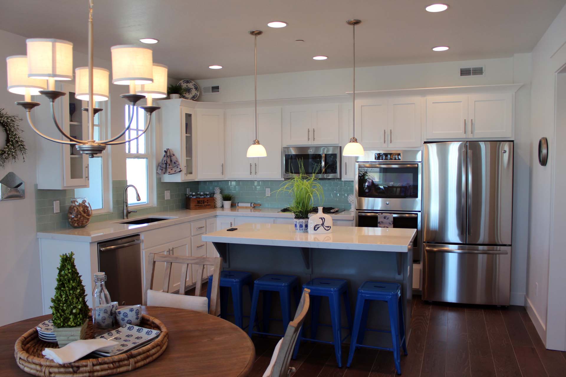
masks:
POLYGON ((83 326, 88 319, 88 305, 83 280, 75 266, 74 253, 62 254, 57 267, 57 286, 51 299, 53 324, 59 328, 83 326))

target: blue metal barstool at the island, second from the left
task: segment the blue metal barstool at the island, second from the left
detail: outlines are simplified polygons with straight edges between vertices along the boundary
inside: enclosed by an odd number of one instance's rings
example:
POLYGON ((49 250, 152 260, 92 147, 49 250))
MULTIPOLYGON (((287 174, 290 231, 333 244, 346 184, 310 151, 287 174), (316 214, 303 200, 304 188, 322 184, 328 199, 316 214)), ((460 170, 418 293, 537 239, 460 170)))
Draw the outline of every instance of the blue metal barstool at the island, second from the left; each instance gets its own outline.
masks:
POLYGON ((254 281, 254 294, 252 294, 251 311, 250 311, 250 324, 255 323, 259 293, 263 292, 263 331, 254 330, 254 326, 248 327, 248 335, 263 334, 283 336, 284 334, 269 333, 269 315, 271 314, 271 294, 272 292, 279 292, 281 299, 281 317, 283 321, 283 332, 289 325, 291 318, 291 293, 294 291, 295 304, 299 305, 300 292, 299 292, 299 278, 293 275, 275 275, 268 274, 261 276, 261 278, 254 281))

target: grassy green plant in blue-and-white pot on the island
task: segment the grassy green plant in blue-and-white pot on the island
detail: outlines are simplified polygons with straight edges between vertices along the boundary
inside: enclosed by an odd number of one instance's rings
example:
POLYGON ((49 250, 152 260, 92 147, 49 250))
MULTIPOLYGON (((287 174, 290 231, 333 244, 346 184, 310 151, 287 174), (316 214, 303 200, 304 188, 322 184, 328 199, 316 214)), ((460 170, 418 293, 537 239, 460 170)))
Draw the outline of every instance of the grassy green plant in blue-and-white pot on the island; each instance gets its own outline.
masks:
POLYGON ((284 181, 282 187, 276 191, 277 196, 280 192, 288 192, 292 197, 289 209, 295 215, 294 224, 297 232, 308 232, 308 215, 315 206, 315 197, 320 206, 324 202, 324 190, 315 178, 315 174, 316 169, 310 176, 305 174, 305 167, 301 161, 299 174, 284 181))

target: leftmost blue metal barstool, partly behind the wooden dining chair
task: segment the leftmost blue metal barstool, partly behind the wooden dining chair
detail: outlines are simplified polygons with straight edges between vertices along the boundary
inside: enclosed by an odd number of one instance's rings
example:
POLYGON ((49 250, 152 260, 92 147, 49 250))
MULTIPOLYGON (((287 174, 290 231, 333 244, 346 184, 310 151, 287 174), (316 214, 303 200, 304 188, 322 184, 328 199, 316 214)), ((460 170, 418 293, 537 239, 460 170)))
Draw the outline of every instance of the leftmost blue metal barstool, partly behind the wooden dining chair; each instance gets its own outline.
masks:
MULTIPOLYGON (((242 290, 244 285, 250 289, 250 298, 252 297, 253 280, 250 272, 244 271, 221 271, 220 272, 220 317, 222 319, 228 318, 228 289, 232 292, 232 301, 234 302, 234 322, 239 328, 243 327, 243 309, 242 309, 242 290)), ((208 287, 212 286, 212 275, 208 276, 208 287)), ((207 289, 208 309, 211 306, 211 290, 207 289)), ((251 323, 251 322, 250 322, 251 323)))

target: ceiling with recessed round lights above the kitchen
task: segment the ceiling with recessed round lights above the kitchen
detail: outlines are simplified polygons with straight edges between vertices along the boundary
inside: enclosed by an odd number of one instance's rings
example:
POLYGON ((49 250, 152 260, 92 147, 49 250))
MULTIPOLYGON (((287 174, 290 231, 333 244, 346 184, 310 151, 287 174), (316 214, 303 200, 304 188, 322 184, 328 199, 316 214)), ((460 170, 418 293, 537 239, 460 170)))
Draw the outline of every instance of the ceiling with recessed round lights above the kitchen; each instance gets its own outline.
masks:
MULTIPOLYGON (((110 60, 110 46, 153 37, 153 60, 167 64, 170 77, 205 79, 253 75, 252 29, 264 31, 259 74, 351 67, 351 18, 362 20, 357 66, 510 57, 533 49, 566 0, 445 0, 450 8, 440 13, 424 10, 432 0, 94 2, 96 57, 110 60), (273 20, 288 26, 267 27, 273 20), (451 49, 431 50, 439 45, 451 49)), ((0 0, 0 9, 5 31, 87 49, 88 0, 0 0)))

